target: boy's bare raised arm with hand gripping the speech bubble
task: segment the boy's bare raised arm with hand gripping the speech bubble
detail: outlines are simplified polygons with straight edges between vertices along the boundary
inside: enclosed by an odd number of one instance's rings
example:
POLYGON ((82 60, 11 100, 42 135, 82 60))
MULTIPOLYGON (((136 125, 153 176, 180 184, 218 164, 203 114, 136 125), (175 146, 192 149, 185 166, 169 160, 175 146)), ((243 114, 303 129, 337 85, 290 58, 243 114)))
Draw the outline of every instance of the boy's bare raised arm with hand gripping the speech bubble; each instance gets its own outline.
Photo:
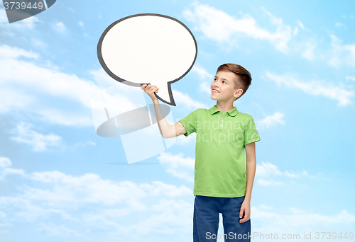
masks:
POLYGON ((157 86, 143 84, 141 89, 144 90, 148 94, 150 98, 153 100, 154 109, 156 120, 158 121, 158 127, 160 130, 160 134, 163 136, 164 139, 177 137, 181 134, 186 133, 185 127, 182 125, 181 122, 176 122, 175 125, 170 125, 168 121, 165 120, 163 112, 161 111, 160 104, 158 98, 155 97, 154 93, 158 92, 157 86))

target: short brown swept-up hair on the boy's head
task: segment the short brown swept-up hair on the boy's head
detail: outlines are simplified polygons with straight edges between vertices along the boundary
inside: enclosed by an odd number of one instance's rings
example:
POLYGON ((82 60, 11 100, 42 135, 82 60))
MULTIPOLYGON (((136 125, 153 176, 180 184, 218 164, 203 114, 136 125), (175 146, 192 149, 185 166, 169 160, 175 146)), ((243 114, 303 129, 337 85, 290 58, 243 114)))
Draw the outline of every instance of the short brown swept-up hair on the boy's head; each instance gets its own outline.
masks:
MULTIPOLYGON (((237 76, 239 76, 239 81, 236 78, 234 79, 234 88, 243 90, 241 96, 243 96, 244 93, 246 93, 246 90, 248 90, 249 86, 251 85, 250 72, 247 71, 244 67, 242 67, 239 64, 231 64, 231 63, 222 64, 218 67, 217 72, 218 71, 231 71, 237 76)), ((239 96, 239 98, 241 98, 241 96, 239 96)), ((239 98, 236 98, 236 100, 239 98)))

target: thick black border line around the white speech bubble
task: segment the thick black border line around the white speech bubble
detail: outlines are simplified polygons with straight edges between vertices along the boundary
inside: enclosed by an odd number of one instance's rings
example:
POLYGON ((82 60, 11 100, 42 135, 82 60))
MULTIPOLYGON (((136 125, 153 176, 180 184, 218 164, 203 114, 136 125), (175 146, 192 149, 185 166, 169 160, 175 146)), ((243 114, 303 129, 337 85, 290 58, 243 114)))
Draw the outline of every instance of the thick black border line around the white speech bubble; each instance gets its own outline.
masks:
POLYGON ((167 101, 165 101, 162 98, 160 98, 157 95, 157 93, 154 93, 155 96, 159 100, 161 100, 163 103, 167 103, 167 104, 176 106, 170 85, 171 85, 171 83, 174 83, 175 81, 179 81, 180 79, 182 79, 182 77, 184 77, 192 69, 193 65, 195 64, 196 58, 197 58, 197 42, 196 42, 195 36, 192 34, 191 30, 189 28, 187 28, 187 26, 184 23, 182 23, 181 21, 178 21, 178 19, 170 17, 170 16, 158 14, 158 13, 139 13, 139 14, 134 14, 134 15, 131 15, 131 16, 127 16, 127 17, 121 18, 118 21, 115 21, 114 23, 111 23, 111 25, 109 25, 109 27, 107 27, 106 30, 104 30, 104 33, 102 33, 101 38, 99 39, 99 43, 97 44, 97 57, 99 58, 99 62, 102 65, 102 67, 104 68, 104 70, 107 72, 107 74, 109 74, 109 76, 111 76, 116 81, 119 81, 119 82, 124 83, 124 84, 129 85, 129 86, 142 86, 143 84, 148 84, 148 83, 133 83, 131 81, 127 81, 125 79, 121 79, 121 77, 116 76, 114 73, 112 73, 112 71, 109 70, 109 68, 107 68, 107 65, 105 64, 104 59, 102 58, 102 41, 104 40, 104 37, 109 32, 109 30, 111 30, 111 28, 114 27, 114 25, 116 25, 117 23, 119 23, 121 21, 124 21, 124 20, 126 20, 128 18, 138 17, 138 16, 158 16, 158 17, 163 17, 163 18, 170 18, 171 20, 176 21, 176 22, 180 23, 182 26, 184 26, 187 29, 187 31, 189 31, 190 35, 192 36, 192 39, 195 42, 196 54, 195 54, 195 59, 194 59, 194 61, 191 64, 191 67, 189 69, 187 69, 185 74, 182 74, 182 76, 180 76, 178 79, 175 79, 173 81, 168 81, 167 82, 168 83, 168 92, 169 92, 170 103, 168 103, 167 101))

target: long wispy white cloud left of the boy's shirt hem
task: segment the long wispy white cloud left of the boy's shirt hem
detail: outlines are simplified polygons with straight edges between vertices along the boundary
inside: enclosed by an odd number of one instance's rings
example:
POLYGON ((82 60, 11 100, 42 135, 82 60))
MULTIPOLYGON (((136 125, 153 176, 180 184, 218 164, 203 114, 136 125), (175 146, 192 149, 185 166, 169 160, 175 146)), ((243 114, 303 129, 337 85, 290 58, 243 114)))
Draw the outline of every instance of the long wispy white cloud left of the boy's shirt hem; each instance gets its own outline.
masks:
POLYGON ((128 180, 116 183, 92 173, 72 176, 59 171, 34 172, 31 173, 31 180, 53 185, 53 190, 28 188, 24 191, 24 196, 30 200, 50 202, 59 207, 62 204, 79 206, 86 203, 104 205, 124 203, 131 209, 144 210, 146 205, 139 201, 142 197, 156 195, 176 197, 191 193, 191 190, 183 185, 178 188, 159 181, 137 185, 128 180))

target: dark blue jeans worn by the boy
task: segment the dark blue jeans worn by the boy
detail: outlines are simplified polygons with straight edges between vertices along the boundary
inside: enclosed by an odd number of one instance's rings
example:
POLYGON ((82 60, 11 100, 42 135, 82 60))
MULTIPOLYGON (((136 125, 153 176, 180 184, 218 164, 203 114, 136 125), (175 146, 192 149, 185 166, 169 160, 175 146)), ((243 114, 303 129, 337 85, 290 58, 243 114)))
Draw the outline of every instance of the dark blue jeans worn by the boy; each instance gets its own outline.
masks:
MULTIPOLYGON (((194 204, 194 242, 250 241, 250 219, 239 223, 239 212, 244 197, 207 197, 195 196, 194 204), (219 213, 223 217, 224 234, 218 236, 219 213)), ((244 214, 243 214, 244 218, 244 214)))

